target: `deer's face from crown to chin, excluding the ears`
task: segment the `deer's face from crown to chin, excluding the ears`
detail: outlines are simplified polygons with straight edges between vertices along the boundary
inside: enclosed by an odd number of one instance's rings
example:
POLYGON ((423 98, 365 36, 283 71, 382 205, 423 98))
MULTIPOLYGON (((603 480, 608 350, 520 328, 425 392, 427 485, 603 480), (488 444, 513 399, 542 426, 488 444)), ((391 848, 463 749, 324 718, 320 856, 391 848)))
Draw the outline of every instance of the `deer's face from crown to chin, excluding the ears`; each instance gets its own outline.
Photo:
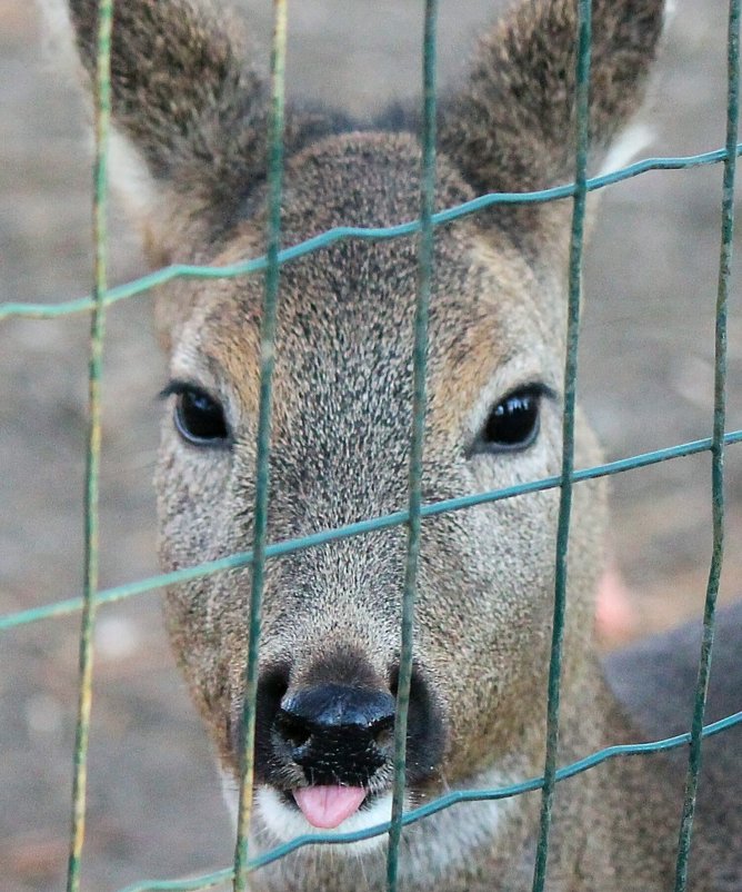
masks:
MULTIPOLYGON (((287 172, 285 241, 340 221, 413 217, 418 170, 405 137, 352 135, 305 150, 287 172)), ((470 196, 441 165, 441 204, 470 196)), ((262 215, 238 225, 215 260, 254 254, 262 215)), ((425 500, 558 474, 562 283, 529 264, 497 226, 448 227, 435 244, 425 500)), ((345 241, 283 267, 271 541, 404 508, 415 289, 411 238, 345 241)), ((168 567, 252 544, 262 283, 189 290, 174 298, 192 309, 172 347, 158 475, 168 567)), ((483 754, 509 752, 522 734, 519 701, 545 667, 555 506, 554 492, 537 493, 425 522, 412 799, 470 776, 483 754)), ((591 527, 585 544, 596 567, 594 513, 591 527)), ((363 791, 357 819, 368 814, 371 824, 379 821, 372 806, 389 800, 404 555, 398 527, 269 562, 258 779, 269 821, 287 833, 299 825, 291 812, 299 814, 305 789, 363 791)), ((245 569, 179 586, 168 598, 176 650, 234 776, 249 592, 245 569)), ((304 807, 310 825, 343 813, 304 807)))

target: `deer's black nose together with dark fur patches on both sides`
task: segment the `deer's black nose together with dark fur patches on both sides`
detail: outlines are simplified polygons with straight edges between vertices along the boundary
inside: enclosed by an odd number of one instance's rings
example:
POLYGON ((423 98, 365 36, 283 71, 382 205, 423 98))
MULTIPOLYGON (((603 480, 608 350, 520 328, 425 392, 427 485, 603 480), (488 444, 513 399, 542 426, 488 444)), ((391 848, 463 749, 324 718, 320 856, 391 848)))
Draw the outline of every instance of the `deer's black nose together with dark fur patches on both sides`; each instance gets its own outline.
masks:
MULTIPOLYGON (((267 667, 258 684, 255 772, 279 790, 308 784, 374 785, 390 781, 394 757, 398 670, 387 684, 361 658, 324 660, 303 685, 291 685, 291 666, 267 667), (370 782, 374 781, 375 784, 370 782)), ((232 720, 235 764, 241 713, 232 720)), ((405 773, 411 785, 435 775, 444 752, 443 713, 424 671, 412 667, 405 773)))

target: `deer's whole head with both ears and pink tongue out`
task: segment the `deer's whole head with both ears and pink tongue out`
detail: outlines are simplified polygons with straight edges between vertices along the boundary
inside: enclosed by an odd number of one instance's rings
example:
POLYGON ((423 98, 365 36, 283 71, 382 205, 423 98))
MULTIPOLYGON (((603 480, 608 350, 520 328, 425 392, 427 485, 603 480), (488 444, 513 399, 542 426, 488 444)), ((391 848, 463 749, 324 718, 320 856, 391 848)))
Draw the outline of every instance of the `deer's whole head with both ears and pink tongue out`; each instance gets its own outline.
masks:
MULTIPOLYGON (((96 4, 72 0, 70 12, 90 72, 96 4)), ((662 16, 660 0, 593 3, 594 157, 641 98, 662 16)), ((484 38, 467 86, 441 102, 438 207, 572 178, 575 29, 572 0, 532 0, 484 38)), ((156 265, 263 250, 265 86, 244 61, 244 31, 205 0, 116 6, 112 109, 126 163, 114 170, 156 265)), ((284 245, 337 225, 418 216, 414 138, 338 122, 287 115, 284 245)), ((437 230, 427 502, 559 472, 569 211, 500 207, 437 230)), ((282 268, 270 541, 405 506, 415 283, 411 238, 343 241, 282 268)), ((251 546, 261 295, 261 280, 248 278, 181 283, 158 298, 171 366, 157 475, 167 568, 251 546)), ((578 463, 594 460, 582 422, 580 434, 578 463)), ((600 572, 595 489, 575 492, 566 697, 579 684, 600 572)), ((531 774, 541 762, 556 502, 541 492, 424 523, 411 802, 492 772, 531 774)), ((394 527, 268 563, 261 844, 388 813, 404 554, 394 527)), ((167 598, 176 653, 232 777, 249 589, 245 568, 167 598)), ((455 822, 445 826, 455 836, 455 822)))

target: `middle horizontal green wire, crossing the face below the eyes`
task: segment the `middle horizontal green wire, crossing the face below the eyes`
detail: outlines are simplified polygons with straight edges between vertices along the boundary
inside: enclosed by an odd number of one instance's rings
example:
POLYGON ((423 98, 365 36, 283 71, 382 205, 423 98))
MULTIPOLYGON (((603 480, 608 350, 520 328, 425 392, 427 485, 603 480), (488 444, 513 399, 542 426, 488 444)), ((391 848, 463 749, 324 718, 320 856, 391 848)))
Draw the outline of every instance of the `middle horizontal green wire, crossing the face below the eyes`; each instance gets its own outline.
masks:
MULTIPOLYGON (((742 442, 742 429, 732 430, 724 436, 724 444, 732 445, 742 442)), ((598 477, 609 477, 613 474, 620 474, 624 470, 634 470, 636 468, 656 465, 660 462, 668 462, 672 458, 681 458, 688 455, 696 455, 699 453, 708 452, 712 447, 711 437, 704 439, 696 439, 690 443, 683 443, 678 446, 670 446, 664 449, 655 449, 651 453, 642 453, 633 455, 629 458, 620 458, 616 462, 609 462, 603 465, 594 465, 589 468, 575 470, 572 477, 574 483, 583 480, 592 480, 598 477)), ((435 517, 439 514, 447 514, 449 512, 462 511, 472 508, 477 505, 487 505, 491 502, 500 502, 504 498, 514 498, 515 496, 525 495, 529 493, 538 493, 543 489, 554 489, 561 484, 561 476, 544 477, 540 480, 531 480, 529 483, 518 484, 517 486, 507 486, 501 489, 490 489, 485 493, 474 493, 469 496, 458 496, 457 498, 445 498, 440 502, 431 502, 423 505, 420 511, 421 517, 435 517)), ((350 538, 352 536, 360 536, 364 533, 373 533, 379 529, 389 529, 393 526, 405 524, 409 519, 407 511, 394 512, 387 514, 382 517, 372 517, 368 521, 359 521, 354 524, 337 527, 334 529, 324 529, 320 533, 313 533, 310 536, 301 536, 300 538, 284 539, 269 545, 265 548, 265 557, 280 557, 281 555, 292 554, 305 548, 312 548, 318 545, 325 545, 329 542, 338 539, 350 538)), ((219 573, 225 569, 238 569, 239 567, 248 566, 252 563, 252 552, 238 552, 221 557, 217 561, 208 561, 203 564, 195 564, 192 567, 183 567, 176 569, 171 573, 160 573, 157 576, 149 576, 143 579, 138 579, 132 583, 126 583, 112 588, 103 588, 96 598, 97 604, 111 604, 117 601, 123 601, 133 595, 141 595, 144 592, 151 592, 156 588, 162 588, 166 585, 177 585, 179 583, 190 582, 198 579, 202 576, 208 576, 211 573, 219 573)), ((67 601, 57 601, 52 604, 46 604, 41 607, 32 607, 28 611, 18 611, 0 616, 0 633, 7 632, 17 626, 27 625, 29 623, 38 622, 39 620, 50 620, 56 616, 64 616, 67 614, 76 613, 82 607, 82 598, 73 597, 67 601)))

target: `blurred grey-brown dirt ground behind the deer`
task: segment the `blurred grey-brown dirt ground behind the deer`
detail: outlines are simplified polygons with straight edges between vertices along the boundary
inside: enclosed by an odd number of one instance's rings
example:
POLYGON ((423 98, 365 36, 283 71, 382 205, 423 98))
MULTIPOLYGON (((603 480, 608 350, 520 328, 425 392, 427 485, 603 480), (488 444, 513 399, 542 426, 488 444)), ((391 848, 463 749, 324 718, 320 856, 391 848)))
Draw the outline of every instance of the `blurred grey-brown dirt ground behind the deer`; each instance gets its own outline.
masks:
MULTIPOLYGON (((264 52, 267 0, 245 3, 264 52)), ((501 3, 443 0, 441 68, 462 70, 501 3)), ((419 3, 304 0, 291 9, 289 83, 364 113, 415 92, 419 3)), ((684 0, 646 119, 653 155, 724 140, 723 0, 684 0)), ((24 0, 0 6, 0 301, 88 293, 89 155, 76 89, 44 61, 24 0)), ((581 394, 606 456, 708 436, 719 256, 719 167, 650 174, 604 196, 586 270, 581 394)), ((118 211, 111 278, 141 274, 118 211)), ((739 248, 738 236, 738 248, 739 248)), ((740 251, 738 250, 738 257, 740 251)), ((729 429, 742 422, 742 314, 734 267, 729 429)), ((81 585, 88 318, 0 325, 0 613, 81 585)), ((109 314, 102 474, 103 586, 157 569, 150 477, 164 383, 147 297, 109 314)), ((710 558, 708 455, 612 484, 616 561, 631 589, 626 636, 700 615, 710 558)), ((729 450, 722 597, 741 591, 742 453, 729 450)), ((0 640, 0 885, 63 888, 78 617, 0 640)), ((156 595, 101 611, 83 886, 224 865, 232 836, 209 745, 160 627, 156 595)))

